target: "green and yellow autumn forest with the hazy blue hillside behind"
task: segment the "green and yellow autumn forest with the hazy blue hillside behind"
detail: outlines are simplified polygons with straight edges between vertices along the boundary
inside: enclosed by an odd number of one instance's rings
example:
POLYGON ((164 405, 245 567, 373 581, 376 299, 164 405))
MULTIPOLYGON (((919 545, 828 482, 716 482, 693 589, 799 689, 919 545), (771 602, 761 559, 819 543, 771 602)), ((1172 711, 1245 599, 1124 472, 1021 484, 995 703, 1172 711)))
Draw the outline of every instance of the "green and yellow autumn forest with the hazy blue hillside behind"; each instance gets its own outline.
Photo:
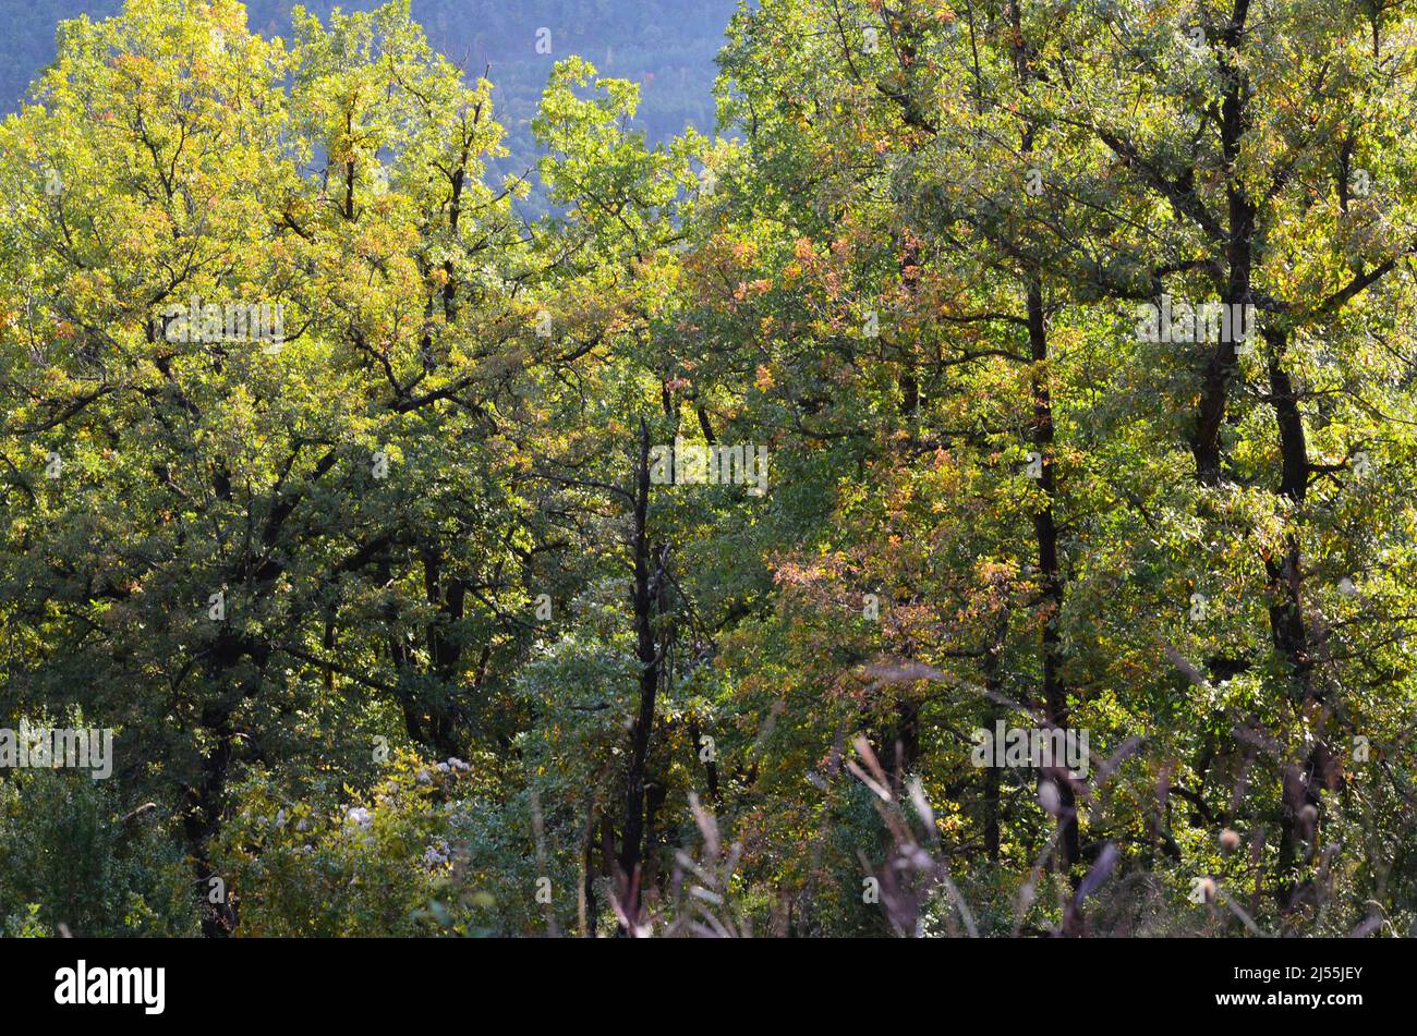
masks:
POLYGON ((1417 934, 1411 3, 84 7, 0 933, 1417 934))

